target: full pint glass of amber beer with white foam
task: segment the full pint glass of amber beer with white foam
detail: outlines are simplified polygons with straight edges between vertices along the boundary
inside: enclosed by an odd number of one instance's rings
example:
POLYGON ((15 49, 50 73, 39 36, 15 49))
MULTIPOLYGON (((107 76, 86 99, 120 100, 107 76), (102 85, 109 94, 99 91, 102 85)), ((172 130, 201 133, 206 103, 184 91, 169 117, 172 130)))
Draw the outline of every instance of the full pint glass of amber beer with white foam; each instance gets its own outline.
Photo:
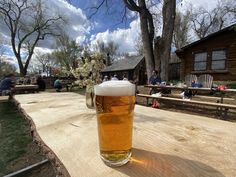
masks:
POLYGON ((135 85, 106 81, 95 95, 100 156, 109 166, 124 165, 131 157, 135 85))

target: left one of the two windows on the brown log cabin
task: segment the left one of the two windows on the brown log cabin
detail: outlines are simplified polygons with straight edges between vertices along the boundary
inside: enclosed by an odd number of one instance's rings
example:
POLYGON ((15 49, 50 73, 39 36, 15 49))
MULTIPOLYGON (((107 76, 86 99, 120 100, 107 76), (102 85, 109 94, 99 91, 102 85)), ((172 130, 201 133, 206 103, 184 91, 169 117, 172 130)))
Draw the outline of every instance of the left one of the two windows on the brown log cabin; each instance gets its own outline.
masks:
POLYGON ((194 71, 206 70, 207 66, 207 53, 195 53, 194 54, 194 71))

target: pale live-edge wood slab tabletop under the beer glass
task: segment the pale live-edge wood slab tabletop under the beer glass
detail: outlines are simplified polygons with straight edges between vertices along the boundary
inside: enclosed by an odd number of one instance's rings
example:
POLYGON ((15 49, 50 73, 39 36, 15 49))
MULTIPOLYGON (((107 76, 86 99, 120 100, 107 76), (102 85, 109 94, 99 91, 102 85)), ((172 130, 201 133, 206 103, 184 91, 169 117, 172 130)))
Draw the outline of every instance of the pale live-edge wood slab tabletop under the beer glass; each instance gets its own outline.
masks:
POLYGON ((132 159, 110 168, 100 160, 95 110, 86 107, 84 96, 43 93, 14 99, 61 176, 236 176, 236 123, 136 105, 132 159))

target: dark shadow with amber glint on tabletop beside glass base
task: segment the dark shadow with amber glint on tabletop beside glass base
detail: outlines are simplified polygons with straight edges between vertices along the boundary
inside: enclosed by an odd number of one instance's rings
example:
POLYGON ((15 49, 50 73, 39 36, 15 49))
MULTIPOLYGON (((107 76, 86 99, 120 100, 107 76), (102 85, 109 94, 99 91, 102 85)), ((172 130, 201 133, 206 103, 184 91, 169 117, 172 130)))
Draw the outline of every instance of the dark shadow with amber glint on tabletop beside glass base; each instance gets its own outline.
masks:
POLYGON ((201 162, 136 148, 128 164, 113 169, 130 177, 225 177, 201 162))

